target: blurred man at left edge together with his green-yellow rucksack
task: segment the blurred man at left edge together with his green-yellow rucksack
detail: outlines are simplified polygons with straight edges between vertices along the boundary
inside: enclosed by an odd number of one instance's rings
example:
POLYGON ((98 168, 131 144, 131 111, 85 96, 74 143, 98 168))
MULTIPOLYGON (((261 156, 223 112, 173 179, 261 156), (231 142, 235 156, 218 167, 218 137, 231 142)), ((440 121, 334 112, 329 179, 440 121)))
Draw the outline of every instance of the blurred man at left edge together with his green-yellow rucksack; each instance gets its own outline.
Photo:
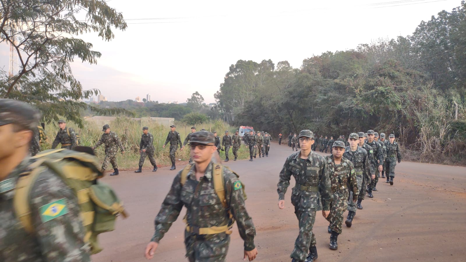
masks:
POLYGON ((1 261, 90 261, 101 250, 97 234, 125 215, 96 181, 98 159, 68 149, 28 158, 39 112, 10 99, 0 99, 0 112, 0 142, 8 141, 0 154, 1 261))

